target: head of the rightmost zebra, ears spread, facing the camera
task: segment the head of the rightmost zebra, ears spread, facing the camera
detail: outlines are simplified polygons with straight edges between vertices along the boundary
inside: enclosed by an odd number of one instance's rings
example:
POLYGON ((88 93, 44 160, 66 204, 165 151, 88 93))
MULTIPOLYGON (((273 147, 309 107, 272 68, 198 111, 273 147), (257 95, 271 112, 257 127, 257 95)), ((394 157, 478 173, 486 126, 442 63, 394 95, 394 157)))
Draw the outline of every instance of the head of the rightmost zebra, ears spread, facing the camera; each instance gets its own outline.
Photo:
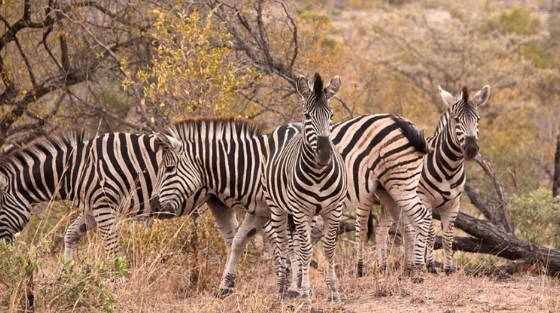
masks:
POLYGON ((449 106, 448 127, 455 134, 454 141, 463 150, 466 160, 474 159, 479 151, 478 147, 478 122, 480 115, 478 107, 485 104, 490 97, 490 86, 486 85, 469 100, 467 87, 463 87, 461 93, 454 97, 449 92, 439 88, 443 101, 449 106))

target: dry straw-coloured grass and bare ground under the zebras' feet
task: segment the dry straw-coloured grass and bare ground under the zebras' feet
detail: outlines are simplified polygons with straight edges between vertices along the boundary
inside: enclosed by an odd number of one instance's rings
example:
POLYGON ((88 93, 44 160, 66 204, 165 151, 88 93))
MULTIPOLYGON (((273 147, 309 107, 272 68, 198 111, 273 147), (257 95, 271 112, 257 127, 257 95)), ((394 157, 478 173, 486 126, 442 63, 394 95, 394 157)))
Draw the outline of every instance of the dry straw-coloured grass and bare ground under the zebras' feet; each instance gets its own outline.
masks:
MULTIPOLYGON (((256 238, 242 258, 236 291, 226 299, 212 295, 224 268, 225 251, 213 222, 203 215, 198 222, 197 245, 190 244, 193 224, 188 219, 156 223, 125 223, 123 254, 129 274, 122 277, 107 261, 101 240, 91 234, 83 240, 73 273, 80 275, 66 285, 58 282, 61 252, 37 253, 39 270, 34 276, 36 312, 302 312, 297 299, 277 301, 271 255, 256 238), (97 262, 97 263, 96 263, 97 262), (100 267, 92 264, 103 263, 100 267), (89 271, 88 274, 82 274, 89 271), (84 276, 85 275, 85 276, 84 276), (93 275, 93 276, 92 276, 93 275), (76 291, 79 279, 90 279, 90 289, 76 291), (111 301, 105 301, 108 297, 111 301), (78 299, 78 300, 76 300, 78 299), (74 301, 74 302, 73 302, 74 301)), ((47 233, 53 233, 52 229, 47 233)), ((36 232, 41 236, 41 232, 36 232)), ((49 237, 50 238, 50 237, 49 237)), ((21 239, 21 238, 20 238, 21 239)), ((35 250, 41 250, 40 240, 35 250)), ((30 246, 16 243, 25 254, 30 246)), ((560 288, 546 277, 515 276, 504 279, 473 277, 460 270, 453 276, 426 274, 423 284, 412 284, 400 275, 402 249, 390 256, 388 274, 375 270, 374 249, 367 249, 367 276, 355 278, 353 242, 341 238, 337 269, 342 303, 328 302, 324 257, 316 247, 318 269, 311 270, 314 312, 558 312, 560 288)), ((441 256, 438 256, 441 259, 441 256)), ((478 256, 456 255, 460 265, 485 264, 478 256), (471 260, 470 263, 468 260, 471 260)), ((494 262, 494 261, 493 261, 494 262)), ((480 266, 480 265, 479 265, 480 266)), ((72 276, 74 277, 74 276, 72 276)), ((0 311, 18 307, 3 297, 9 288, 0 284, 0 311)))

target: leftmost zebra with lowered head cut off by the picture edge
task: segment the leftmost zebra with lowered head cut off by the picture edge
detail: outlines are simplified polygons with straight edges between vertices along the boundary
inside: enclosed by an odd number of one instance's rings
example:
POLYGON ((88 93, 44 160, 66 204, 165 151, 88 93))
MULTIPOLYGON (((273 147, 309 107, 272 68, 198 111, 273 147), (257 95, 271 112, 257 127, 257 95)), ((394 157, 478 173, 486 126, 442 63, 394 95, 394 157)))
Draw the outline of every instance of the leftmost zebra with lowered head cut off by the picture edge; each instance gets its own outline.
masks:
POLYGON ((155 135, 109 133, 89 140, 83 133, 40 139, 0 161, 0 239, 13 240, 29 222, 33 205, 72 200, 83 214, 65 236, 64 256, 97 225, 105 251, 119 250, 118 213, 159 214, 152 198, 161 153, 155 135))

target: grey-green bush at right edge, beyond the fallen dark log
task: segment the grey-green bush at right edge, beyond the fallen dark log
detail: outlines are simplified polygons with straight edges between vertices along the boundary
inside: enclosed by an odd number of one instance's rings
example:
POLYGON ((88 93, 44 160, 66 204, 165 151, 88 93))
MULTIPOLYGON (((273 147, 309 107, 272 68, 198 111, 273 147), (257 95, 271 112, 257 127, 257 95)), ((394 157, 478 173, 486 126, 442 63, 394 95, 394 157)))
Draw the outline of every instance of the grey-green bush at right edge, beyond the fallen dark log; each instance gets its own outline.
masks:
POLYGON ((511 217, 520 238, 560 247, 560 198, 553 198, 550 190, 539 188, 515 198, 511 217))

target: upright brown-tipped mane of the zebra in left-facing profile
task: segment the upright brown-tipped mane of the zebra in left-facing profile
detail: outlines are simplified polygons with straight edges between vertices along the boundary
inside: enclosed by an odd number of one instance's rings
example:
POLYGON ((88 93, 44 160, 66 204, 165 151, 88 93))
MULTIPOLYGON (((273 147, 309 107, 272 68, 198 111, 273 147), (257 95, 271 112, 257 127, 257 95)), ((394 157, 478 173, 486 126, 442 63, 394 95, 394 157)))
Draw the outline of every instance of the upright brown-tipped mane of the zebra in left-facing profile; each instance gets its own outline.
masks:
POLYGON ((180 140, 242 139, 260 136, 262 129, 238 118, 189 118, 167 126, 163 133, 180 140))

